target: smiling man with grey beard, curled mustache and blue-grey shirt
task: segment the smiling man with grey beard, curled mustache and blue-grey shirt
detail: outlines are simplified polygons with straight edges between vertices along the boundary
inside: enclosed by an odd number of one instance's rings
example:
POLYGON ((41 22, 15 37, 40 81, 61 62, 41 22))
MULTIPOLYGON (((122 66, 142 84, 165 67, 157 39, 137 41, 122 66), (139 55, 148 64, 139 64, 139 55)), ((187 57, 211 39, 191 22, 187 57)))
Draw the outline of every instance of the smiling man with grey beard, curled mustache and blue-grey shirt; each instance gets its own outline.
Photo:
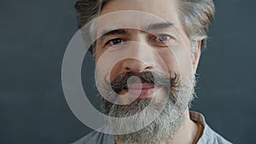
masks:
POLYGON ((189 112, 212 0, 79 0, 76 9, 80 28, 101 17, 90 50, 112 132, 75 143, 230 143, 189 112))

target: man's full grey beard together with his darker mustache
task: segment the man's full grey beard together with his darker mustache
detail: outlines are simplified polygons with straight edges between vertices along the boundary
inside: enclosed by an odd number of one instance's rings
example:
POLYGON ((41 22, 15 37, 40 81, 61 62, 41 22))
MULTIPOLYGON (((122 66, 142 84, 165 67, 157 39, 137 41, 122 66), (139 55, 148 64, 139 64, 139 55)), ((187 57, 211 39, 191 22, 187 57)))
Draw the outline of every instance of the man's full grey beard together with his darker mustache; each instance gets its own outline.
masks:
MULTIPOLYGON (((113 131, 124 132, 115 133, 116 141, 123 144, 172 141, 172 136, 185 121, 183 112, 194 99, 195 87, 195 75, 192 72, 186 77, 180 77, 176 73, 174 76, 174 78, 170 78, 170 76, 157 72, 125 72, 110 84, 112 90, 104 87, 102 83, 97 84, 101 89, 101 93, 98 94, 102 101, 102 112, 113 118, 130 118, 129 121, 109 119, 109 125, 113 131), (122 89, 127 89, 129 78, 132 76, 140 78, 142 83, 154 84, 162 88, 163 93, 154 95, 160 99, 137 98, 129 105, 110 102, 117 99, 122 89), (108 100, 104 99, 102 95, 108 96, 108 100), (151 107, 151 109, 143 111, 147 107, 151 107), (142 129, 137 130, 137 128, 142 129)), ((100 82, 96 81, 96 83, 100 82)))

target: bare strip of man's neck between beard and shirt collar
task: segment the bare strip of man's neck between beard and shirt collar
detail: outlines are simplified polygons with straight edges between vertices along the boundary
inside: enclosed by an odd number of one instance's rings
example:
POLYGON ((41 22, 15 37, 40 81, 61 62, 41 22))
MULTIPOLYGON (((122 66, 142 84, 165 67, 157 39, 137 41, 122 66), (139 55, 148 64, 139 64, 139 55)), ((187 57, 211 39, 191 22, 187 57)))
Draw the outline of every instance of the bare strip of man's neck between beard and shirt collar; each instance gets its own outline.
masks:
MULTIPOLYGON (((198 128, 197 125, 189 118, 189 108, 184 112, 184 124, 177 132, 172 135, 172 144, 191 144, 195 140, 198 128)), ((116 140, 116 139, 115 139, 116 140)), ((122 141, 116 141, 116 144, 121 144, 122 141)), ((160 141, 160 144, 169 144, 170 141, 160 141)))

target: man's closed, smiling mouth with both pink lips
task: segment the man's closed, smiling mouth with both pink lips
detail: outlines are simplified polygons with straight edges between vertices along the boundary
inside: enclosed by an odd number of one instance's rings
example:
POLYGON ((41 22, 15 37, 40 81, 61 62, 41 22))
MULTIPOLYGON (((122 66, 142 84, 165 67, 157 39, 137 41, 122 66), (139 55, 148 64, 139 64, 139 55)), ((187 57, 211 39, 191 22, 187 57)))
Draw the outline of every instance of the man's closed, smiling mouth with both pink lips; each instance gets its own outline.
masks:
POLYGON ((127 87, 121 91, 121 93, 128 94, 139 99, 145 99, 152 98, 157 89, 159 89, 159 87, 155 84, 128 84, 127 87))

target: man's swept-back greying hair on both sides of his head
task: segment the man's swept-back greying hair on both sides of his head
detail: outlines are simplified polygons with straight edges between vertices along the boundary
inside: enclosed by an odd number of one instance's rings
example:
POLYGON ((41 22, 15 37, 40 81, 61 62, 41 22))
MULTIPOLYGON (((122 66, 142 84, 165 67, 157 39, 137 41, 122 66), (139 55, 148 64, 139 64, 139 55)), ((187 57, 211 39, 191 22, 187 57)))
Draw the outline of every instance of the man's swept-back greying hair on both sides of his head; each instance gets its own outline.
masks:
MULTIPOLYGON (((187 33, 192 51, 197 51, 197 42, 201 41, 201 48, 207 47, 207 32, 212 24, 215 6, 212 0, 177 0, 179 1, 179 18, 187 33)), ((78 13, 79 28, 90 20, 95 19, 108 0, 77 0, 75 9, 78 13)), ((94 53, 96 44, 90 46, 94 53)))

